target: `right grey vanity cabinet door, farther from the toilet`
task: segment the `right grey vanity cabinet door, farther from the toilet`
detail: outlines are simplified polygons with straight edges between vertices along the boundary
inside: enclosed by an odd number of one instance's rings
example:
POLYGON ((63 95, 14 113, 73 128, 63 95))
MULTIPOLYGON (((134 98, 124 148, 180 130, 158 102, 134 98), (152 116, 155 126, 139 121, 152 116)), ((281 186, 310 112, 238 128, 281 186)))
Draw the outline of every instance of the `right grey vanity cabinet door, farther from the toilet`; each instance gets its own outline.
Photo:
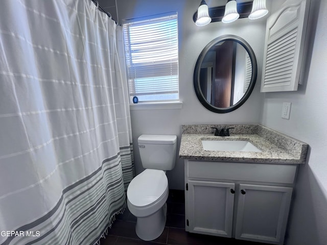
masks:
POLYGON ((236 239, 283 244, 292 188, 240 184, 236 239))

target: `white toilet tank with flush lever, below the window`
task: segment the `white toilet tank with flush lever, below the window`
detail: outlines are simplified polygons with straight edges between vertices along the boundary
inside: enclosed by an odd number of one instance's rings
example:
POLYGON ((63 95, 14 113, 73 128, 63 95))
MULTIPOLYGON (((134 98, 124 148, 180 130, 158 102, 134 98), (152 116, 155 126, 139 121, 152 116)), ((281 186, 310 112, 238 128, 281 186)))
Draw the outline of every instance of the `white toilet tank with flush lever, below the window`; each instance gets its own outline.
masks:
POLYGON ((176 135, 143 134, 137 142, 144 168, 172 170, 175 167, 176 135))

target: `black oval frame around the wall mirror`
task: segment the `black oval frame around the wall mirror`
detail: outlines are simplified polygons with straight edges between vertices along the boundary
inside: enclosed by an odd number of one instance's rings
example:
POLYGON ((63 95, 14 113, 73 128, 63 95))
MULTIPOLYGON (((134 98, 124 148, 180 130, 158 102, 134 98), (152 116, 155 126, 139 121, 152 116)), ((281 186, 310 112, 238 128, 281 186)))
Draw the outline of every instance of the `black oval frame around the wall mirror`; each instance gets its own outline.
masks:
POLYGON ((251 46, 241 37, 238 37, 238 36, 235 36, 235 35, 223 35, 223 36, 215 38, 214 40, 209 42, 203 48, 202 52, 199 55, 198 60, 196 61, 195 68, 194 68, 194 76, 193 76, 193 83, 194 83, 195 93, 196 93, 196 96, 198 97, 199 101, 201 102, 201 104, 206 109, 211 110, 211 111, 216 112, 216 113, 231 112, 233 110, 236 110, 240 106, 242 106, 245 103, 245 101, 249 98, 250 94, 253 91, 257 75, 258 75, 258 65, 256 64, 256 58, 255 58, 255 55, 254 55, 254 52, 253 52, 251 46), (252 64, 252 76, 251 76, 251 81, 250 81, 248 89, 246 90, 246 92, 243 95, 242 99, 238 103, 236 103, 235 105, 232 105, 230 107, 227 107, 227 108, 219 108, 219 107, 215 107, 215 106, 211 105, 210 103, 208 103, 205 100, 205 98, 204 98, 204 96, 202 94, 202 91, 200 89, 200 78, 199 78, 199 76, 200 76, 200 67, 201 67, 202 61, 203 61, 205 55, 207 54, 207 52, 214 45, 216 45, 218 42, 227 41, 227 40, 236 41, 245 48, 245 50, 247 51, 247 53, 250 56, 250 60, 251 60, 251 64, 252 64))

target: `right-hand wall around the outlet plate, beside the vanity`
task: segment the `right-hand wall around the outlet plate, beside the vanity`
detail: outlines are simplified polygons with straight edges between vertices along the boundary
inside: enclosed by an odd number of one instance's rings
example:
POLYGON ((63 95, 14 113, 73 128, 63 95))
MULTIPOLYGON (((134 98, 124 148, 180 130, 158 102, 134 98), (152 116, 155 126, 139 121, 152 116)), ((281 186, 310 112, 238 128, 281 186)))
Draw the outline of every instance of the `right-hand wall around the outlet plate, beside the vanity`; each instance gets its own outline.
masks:
POLYGON ((309 18, 308 79, 295 92, 265 93, 261 119, 310 145, 298 173, 288 245, 327 244, 327 1, 312 0, 309 18), (290 120, 281 118, 283 102, 292 103, 290 120))

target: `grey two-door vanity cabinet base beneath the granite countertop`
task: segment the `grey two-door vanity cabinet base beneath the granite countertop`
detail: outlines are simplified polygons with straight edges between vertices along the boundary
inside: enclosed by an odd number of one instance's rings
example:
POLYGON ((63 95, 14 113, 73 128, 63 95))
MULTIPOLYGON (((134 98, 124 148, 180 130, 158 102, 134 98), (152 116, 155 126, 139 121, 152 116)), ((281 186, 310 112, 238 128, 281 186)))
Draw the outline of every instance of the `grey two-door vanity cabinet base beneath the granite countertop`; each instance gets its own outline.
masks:
POLYGON ((185 230, 283 244, 296 165, 185 160, 185 230))

